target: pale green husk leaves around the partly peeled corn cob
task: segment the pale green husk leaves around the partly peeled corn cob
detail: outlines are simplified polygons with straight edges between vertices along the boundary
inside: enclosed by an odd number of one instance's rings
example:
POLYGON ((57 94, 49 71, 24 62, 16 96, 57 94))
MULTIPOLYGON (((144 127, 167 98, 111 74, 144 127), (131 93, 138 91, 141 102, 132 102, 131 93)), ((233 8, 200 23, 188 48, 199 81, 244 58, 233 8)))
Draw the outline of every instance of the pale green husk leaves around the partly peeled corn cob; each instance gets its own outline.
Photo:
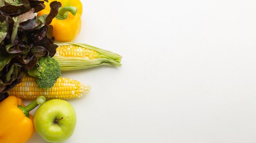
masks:
POLYGON ((64 46, 64 45, 79 46, 81 48, 94 50, 97 52, 96 54, 95 53, 93 54, 93 56, 97 58, 93 58, 93 59, 82 58, 82 57, 72 57, 72 56, 60 56, 58 55, 58 52, 56 52, 53 58, 55 58, 56 61, 58 61, 58 63, 60 64, 61 71, 87 69, 91 67, 97 67, 99 65, 110 65, 110 66, 121 67, 122 56, 120 56, 119 54, 110 52, 108 50, 103 50, 101 48, 97 48, 84 43, 55 43, 55 44, 58 46, 64 46))

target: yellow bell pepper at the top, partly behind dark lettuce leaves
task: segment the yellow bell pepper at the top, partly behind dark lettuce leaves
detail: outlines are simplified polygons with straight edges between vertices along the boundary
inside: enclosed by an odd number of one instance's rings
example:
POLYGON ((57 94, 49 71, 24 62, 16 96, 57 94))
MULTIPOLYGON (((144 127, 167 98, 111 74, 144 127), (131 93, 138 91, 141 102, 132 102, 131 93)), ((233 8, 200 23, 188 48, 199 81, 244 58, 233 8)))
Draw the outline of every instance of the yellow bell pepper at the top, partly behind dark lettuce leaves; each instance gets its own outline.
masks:
MULTIPOLYGON (((45 2, 45 9, 39 11, 37 16, 49 14, 49 4, 54 0, 45 2)), ((81 15, 83 13, 83 5, 80 0, 58 0, 61 2, 61 8, 59 8, 58 15, 52 20, 53 36, 56 41, 71 42, 80 33, 82 20, 81 15)))

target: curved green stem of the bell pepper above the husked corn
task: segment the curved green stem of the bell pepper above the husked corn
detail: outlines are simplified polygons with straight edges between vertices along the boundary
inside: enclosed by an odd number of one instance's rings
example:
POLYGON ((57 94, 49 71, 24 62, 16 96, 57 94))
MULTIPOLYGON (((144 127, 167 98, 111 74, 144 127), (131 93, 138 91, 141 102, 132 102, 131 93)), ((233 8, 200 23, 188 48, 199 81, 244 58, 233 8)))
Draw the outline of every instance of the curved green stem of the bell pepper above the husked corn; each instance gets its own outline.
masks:
POLYGON ((65 20, 65 19, 67 19, 68 12, 70 12, 72 15, 76 15, 77 8, 75 6, 61 7, 58 10, 58 15, 56 16, 56 18, 58 20, 65 20))

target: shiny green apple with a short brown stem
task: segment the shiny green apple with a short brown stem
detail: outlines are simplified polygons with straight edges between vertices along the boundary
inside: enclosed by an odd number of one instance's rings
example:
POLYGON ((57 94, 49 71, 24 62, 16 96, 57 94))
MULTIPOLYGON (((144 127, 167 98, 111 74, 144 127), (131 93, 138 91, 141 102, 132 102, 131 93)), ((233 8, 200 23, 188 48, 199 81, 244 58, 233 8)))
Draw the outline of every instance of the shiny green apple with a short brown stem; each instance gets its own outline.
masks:
POLYGON ((45 141, 50 143, 63 142, 74 133, 76 111, 65 100, 49 100, 36 110, 34 127, 45 141))

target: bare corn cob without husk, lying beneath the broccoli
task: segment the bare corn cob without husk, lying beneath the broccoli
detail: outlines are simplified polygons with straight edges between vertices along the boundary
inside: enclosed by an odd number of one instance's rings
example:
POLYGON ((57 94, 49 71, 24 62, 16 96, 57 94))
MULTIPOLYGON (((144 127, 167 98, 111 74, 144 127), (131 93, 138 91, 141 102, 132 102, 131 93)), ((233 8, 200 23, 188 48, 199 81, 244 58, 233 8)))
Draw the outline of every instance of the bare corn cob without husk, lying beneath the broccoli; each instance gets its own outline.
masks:
POLYGON ((36 85, 36 78, 22 73, 22 82, 8 91, 9 95, 14 95, 22 99, 36 99, 40 95, 48 99, 70 99, 80 98, 90 91, 89 85, 69 78, 58 78, 54 86, 49 89, 42 89, 36 85))

